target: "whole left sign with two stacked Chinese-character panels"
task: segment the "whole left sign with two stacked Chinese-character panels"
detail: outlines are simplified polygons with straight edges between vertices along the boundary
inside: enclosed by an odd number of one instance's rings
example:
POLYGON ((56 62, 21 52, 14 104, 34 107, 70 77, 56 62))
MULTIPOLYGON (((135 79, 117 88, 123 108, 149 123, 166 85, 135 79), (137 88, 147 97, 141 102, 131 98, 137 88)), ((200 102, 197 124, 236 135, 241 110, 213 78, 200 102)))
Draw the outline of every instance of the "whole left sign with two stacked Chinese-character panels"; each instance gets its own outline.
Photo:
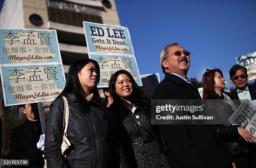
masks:
POLYGON ((56 30, 0 29, 5 106, 53 101, 65 75, 56 30))

